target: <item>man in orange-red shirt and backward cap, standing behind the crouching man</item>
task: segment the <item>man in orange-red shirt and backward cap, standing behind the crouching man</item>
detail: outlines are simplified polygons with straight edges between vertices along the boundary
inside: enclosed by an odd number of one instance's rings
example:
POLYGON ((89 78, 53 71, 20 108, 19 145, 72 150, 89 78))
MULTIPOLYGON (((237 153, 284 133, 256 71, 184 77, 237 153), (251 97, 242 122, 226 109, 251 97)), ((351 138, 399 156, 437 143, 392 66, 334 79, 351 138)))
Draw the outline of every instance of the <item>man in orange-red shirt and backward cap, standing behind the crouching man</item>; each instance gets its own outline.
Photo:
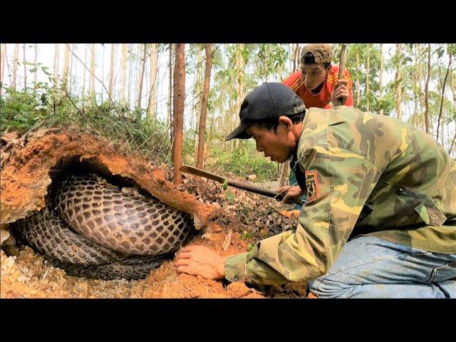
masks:
POLYGON ((353 106, 350 74, 344 68, 338 80, 338 66, 331 66, 333 48, 329 44, 308 44, 301 54, 301 68, 282 83, 289 86, 304 101, 306 108, 331 108, 336 98, 343 105, 353 106))

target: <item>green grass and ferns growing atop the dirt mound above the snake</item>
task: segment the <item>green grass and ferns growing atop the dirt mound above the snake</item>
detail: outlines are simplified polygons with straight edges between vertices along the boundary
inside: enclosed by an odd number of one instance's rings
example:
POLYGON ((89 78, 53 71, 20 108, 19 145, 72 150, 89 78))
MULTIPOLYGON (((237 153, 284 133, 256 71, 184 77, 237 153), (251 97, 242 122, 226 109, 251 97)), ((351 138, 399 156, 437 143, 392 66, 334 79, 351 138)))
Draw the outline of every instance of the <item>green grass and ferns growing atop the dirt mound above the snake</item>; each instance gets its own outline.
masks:
POLYGON ((145 110, 130 111, 120 104, 98 105, 90 98, 68 97, 61 95, 61 90, 49 89, 47 83, 37 83, 36 88, 27 92, 6 86, 4 90, 0 98, 1 134, 6 130, 24 133, 36 125, 79 128, 140 152, 156 164, 167 160, 167 127, 155 118, 147 118, 145 110))

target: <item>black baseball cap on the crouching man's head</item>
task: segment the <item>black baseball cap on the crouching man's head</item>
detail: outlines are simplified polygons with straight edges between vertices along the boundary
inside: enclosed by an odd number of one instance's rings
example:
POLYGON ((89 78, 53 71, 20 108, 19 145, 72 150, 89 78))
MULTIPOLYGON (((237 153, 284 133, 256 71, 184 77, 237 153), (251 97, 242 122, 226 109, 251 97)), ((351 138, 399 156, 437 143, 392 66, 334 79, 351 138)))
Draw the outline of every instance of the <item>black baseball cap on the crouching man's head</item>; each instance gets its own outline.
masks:
POLYGON ((242 101, 239 110, 241 124, 229 133, 226 140, 249 139, 245 132, 255 122, 271 120, 281 116, 292 116, 303 113, 306 110, 303 100, 282 83, 263 83, 258 86, 242 101))

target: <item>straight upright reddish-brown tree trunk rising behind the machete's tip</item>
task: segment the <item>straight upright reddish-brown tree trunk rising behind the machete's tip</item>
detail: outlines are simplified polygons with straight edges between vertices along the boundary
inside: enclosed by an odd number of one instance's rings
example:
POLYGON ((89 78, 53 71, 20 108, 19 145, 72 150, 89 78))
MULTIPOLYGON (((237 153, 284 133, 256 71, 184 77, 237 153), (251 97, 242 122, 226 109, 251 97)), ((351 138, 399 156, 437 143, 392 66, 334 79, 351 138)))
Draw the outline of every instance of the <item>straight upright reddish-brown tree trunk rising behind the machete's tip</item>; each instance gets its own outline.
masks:
POLYGON ((174 99, 173 99, 173 121, 175 126, 174 138, 174 184, 182 182, 182 128, 184 123, 185 104, 185 44, 176 44, 175 71, 174 71, 174 99))

